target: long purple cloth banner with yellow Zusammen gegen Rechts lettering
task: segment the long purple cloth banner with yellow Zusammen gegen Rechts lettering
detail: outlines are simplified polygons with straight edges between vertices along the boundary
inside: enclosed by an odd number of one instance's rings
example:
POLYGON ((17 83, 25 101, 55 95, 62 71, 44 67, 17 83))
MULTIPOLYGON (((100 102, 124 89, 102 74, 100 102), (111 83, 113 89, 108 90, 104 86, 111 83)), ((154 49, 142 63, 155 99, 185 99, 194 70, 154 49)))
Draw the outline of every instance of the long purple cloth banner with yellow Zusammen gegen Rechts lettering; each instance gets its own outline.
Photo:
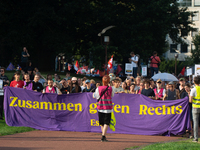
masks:
MULTIPOLYGON (((159 101, 137 94, 115 94, 113 105, 116 131, 109 133, 177 135, 191 128, 187 97, 159 101)), ((9 126, 101 132, 92 93, 42 94, 5 87, 4 111, 9 126)))

